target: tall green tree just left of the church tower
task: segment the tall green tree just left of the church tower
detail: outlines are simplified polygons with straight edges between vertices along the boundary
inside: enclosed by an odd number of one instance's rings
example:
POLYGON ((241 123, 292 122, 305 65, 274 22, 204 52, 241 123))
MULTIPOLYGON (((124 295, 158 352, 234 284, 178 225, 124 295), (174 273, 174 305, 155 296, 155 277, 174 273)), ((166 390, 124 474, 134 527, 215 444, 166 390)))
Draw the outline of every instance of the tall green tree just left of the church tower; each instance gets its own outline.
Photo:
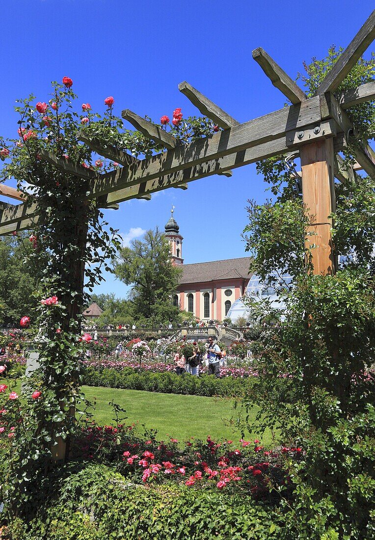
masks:
POLYGON ((129 299, 134 319, 152 324, 174 322, 179 314, 173 305, 181 269, 173 266, 169 243, 158 227, 147 231, 142 240, 132 240, 131 247, 122 247, 114 272, 126 285, 131 285, 129 299))

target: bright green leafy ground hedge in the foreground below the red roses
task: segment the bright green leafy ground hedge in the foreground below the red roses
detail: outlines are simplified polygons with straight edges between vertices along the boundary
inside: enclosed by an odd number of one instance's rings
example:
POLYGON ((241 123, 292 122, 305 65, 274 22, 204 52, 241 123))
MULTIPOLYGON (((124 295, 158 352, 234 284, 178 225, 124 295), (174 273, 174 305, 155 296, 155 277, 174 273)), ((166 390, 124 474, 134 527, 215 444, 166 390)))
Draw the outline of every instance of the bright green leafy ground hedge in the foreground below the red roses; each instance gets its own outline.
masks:
POLYGON ((12 540, 275 540, 283 529, 277 508, 250 497, 134 485, 94 464, 66 477, 36 512, 9 524, 12 540))

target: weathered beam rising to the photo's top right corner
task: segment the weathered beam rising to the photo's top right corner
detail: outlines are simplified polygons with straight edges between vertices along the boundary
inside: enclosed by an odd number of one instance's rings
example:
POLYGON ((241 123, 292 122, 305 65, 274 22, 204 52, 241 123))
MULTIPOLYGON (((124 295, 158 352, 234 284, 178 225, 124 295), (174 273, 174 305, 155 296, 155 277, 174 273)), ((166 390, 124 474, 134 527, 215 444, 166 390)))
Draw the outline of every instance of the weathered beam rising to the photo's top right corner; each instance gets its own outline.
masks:
POLYGON ((335 92, 340 83, 343 82, 354 64, 375 39, 375 10, 353 37, 349 45, 343 51, 331 71, 327 73, 321 84, 319 84, 315 96, 325 92, 335 92))

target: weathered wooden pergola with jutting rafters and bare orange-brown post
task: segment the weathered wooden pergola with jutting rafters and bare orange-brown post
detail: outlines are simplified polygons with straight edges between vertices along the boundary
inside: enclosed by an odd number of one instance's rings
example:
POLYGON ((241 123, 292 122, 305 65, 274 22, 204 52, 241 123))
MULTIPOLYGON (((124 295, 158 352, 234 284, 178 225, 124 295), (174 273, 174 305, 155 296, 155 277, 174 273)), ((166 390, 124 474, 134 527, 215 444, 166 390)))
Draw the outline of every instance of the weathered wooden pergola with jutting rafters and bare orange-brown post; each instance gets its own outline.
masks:
MULTIPOLYGON (((337 63, 319 85, 315 95, 306 98, 305 93, 265 52, 258 48, 253 58, 264 73, 292 103, 265 116, 240 123, 203 96, 187 82, 179 90, 197 109, 222 131, 212 137, 202 138, 190 144, 181 144, 160 126, 145 120, 132 111, 122 111, 137 130, 164 146, 164 153, 151 158, 137 159, 114 147, 104 147, 92 138, 80 136, 80 141, 100 156, 117 161, 117 170, 97 173, 67 160, 59 159, 49 152, 41 158, 54 166, 81 179, 89 181, 88 199, 97 199, 102 208, 118 208, 118 203, 129 199, 151 199, 152 193, 168 187, 187 189, 188 182, 223 174, 231 176, 231 170, 274 156, 301 158, 303 203, 315 217, 311 242, 314 273, 335 273, 332 254, 331 226, 328 217, 335 210, 335 177, 341 181, 355 179, 357 170, 363 169, 375 177, 375 154, 366 140, 358 144, 356 126, 352 124, 346 109, 373 100, 375 82, 363 84, 340 95, 334 95, 339 84, 353 68, 363 52, 375 38, 375 10, 364 23, 337 63), (339 152, 356 138, 357 163, 347 168, 339 152)), ((22 201, 11 205, 0 203, 0 235, 33 228, 38 224, 40 209, 37 197, 25 204, 25 195, 15 188, 0 184, 0 194, 22 201), (31 204, 30 204, 31 203, 31 204)), ((28 196, 28 197, 31 197, 28 196)))

